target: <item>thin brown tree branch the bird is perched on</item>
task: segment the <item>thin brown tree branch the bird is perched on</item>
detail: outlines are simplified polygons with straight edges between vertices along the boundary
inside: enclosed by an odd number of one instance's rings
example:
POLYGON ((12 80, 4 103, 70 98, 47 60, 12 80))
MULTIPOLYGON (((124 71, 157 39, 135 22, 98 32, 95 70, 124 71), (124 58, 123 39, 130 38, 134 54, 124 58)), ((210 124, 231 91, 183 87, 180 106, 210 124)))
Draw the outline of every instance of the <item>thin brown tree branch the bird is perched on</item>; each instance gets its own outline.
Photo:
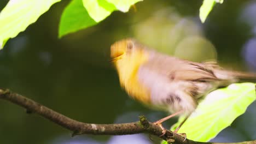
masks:
MULTIPOLYGON (((172 133, 167 130, 162 135, 162 129, 153 123, 147 121, 144 116, 139 117, 138 122, 121 123, 121 124, 91 124, 75 121, 69 117, 62 115, 54 110, 43 106, 36 101, 28 99, 20 94, 10 92, 8 89, 0 89, 0 99, 10 101, 11 103, 24 107, 27 112, 37 113, 38 115, 49 119, 50 121, 61 125, 61 127, 73 131, 72 136, 90 134, 90 135, 130 135, 147 133, 160 137, 168 143, 184 143, 184 144, 211 144, 212 142, 196 142, 189 139, 184 141, 184 137, 172 133), (162 136, 161 136, 162 135, 162 136)), ((214 143, 224 144, 224 143, 214 143)), ((256 144, 256 140, 248 142, 238 142, 236 144, 256 144)))

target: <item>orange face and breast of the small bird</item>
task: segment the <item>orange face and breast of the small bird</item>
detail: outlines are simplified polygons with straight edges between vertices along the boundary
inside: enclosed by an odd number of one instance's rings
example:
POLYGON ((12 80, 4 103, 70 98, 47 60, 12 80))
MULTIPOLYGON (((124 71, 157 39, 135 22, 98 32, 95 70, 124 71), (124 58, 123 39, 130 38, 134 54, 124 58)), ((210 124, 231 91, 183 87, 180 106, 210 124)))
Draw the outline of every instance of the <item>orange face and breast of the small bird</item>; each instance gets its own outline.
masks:
POLYGON ((138 81, 138 71, 149 60, 149 50, 134 39, 123 39, 111 45, 110 57, 118 71, 121 86, 132 98, 149 104, 149 92, 138 81))

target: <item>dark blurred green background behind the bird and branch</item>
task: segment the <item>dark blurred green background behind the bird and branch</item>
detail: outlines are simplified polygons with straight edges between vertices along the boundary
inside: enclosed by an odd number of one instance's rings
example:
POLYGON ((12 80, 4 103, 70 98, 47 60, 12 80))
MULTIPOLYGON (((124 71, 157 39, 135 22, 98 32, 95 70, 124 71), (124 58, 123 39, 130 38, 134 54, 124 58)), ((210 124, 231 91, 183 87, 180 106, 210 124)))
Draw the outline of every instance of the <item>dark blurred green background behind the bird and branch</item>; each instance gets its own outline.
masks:
MULTIPOLYGON (((0 1, 0 10, 7 2, 0 1)), ((25 32, 8 41, 0 51, 0 87, 81 122, 133 122, 139 115, 156 121, 167 113, 147 109, 120 88, 118 75, 109 63, 109 47, 114 41, 134 37, 170 55, 193 61, 217 58, 229 69, 256 70, 256 1, 226 0, 217 4, 202 24, 202 1, 148 0, 137 3, 137 10, 115 11, 96 26, 58 39, 61 13, 69 2, 54 4, 25 32)), ((255 140, 255 109, 253 103, 212 141, 255 140)), ((0 100, 0 143, 153 141, 148 135, 71 137, 71 131, 0 100)))

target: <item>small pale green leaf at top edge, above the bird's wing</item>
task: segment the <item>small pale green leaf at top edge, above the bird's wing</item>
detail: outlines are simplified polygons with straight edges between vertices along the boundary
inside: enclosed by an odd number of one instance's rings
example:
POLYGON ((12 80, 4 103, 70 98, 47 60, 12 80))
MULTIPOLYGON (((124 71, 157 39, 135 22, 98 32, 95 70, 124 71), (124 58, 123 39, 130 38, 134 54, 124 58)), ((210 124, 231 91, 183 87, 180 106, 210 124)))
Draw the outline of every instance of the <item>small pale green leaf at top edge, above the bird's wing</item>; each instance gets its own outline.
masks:
POLYGON ((211 12, 213 6, 215 5, 215 3, 223 3, 224 0, 204 0, 203 4, 200 7, 200 13, 199 13, 199 17, 201 22, 205 22, 206 17, 208 16, 208 14, 211 12))

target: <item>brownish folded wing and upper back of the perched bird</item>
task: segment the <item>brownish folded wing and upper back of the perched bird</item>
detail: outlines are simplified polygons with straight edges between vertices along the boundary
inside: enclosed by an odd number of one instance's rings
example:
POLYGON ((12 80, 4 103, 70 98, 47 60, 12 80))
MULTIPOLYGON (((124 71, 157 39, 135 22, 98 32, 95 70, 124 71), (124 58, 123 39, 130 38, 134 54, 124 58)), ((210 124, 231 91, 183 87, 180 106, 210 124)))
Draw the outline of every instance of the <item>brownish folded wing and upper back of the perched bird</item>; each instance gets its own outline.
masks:
POLYGON ((216 63, 196 63, 162 55, 161 53, 154 53, 144 66, 153 73, 166 75, 171 80, 219 80, 212 70, 218 67, 216 63))

